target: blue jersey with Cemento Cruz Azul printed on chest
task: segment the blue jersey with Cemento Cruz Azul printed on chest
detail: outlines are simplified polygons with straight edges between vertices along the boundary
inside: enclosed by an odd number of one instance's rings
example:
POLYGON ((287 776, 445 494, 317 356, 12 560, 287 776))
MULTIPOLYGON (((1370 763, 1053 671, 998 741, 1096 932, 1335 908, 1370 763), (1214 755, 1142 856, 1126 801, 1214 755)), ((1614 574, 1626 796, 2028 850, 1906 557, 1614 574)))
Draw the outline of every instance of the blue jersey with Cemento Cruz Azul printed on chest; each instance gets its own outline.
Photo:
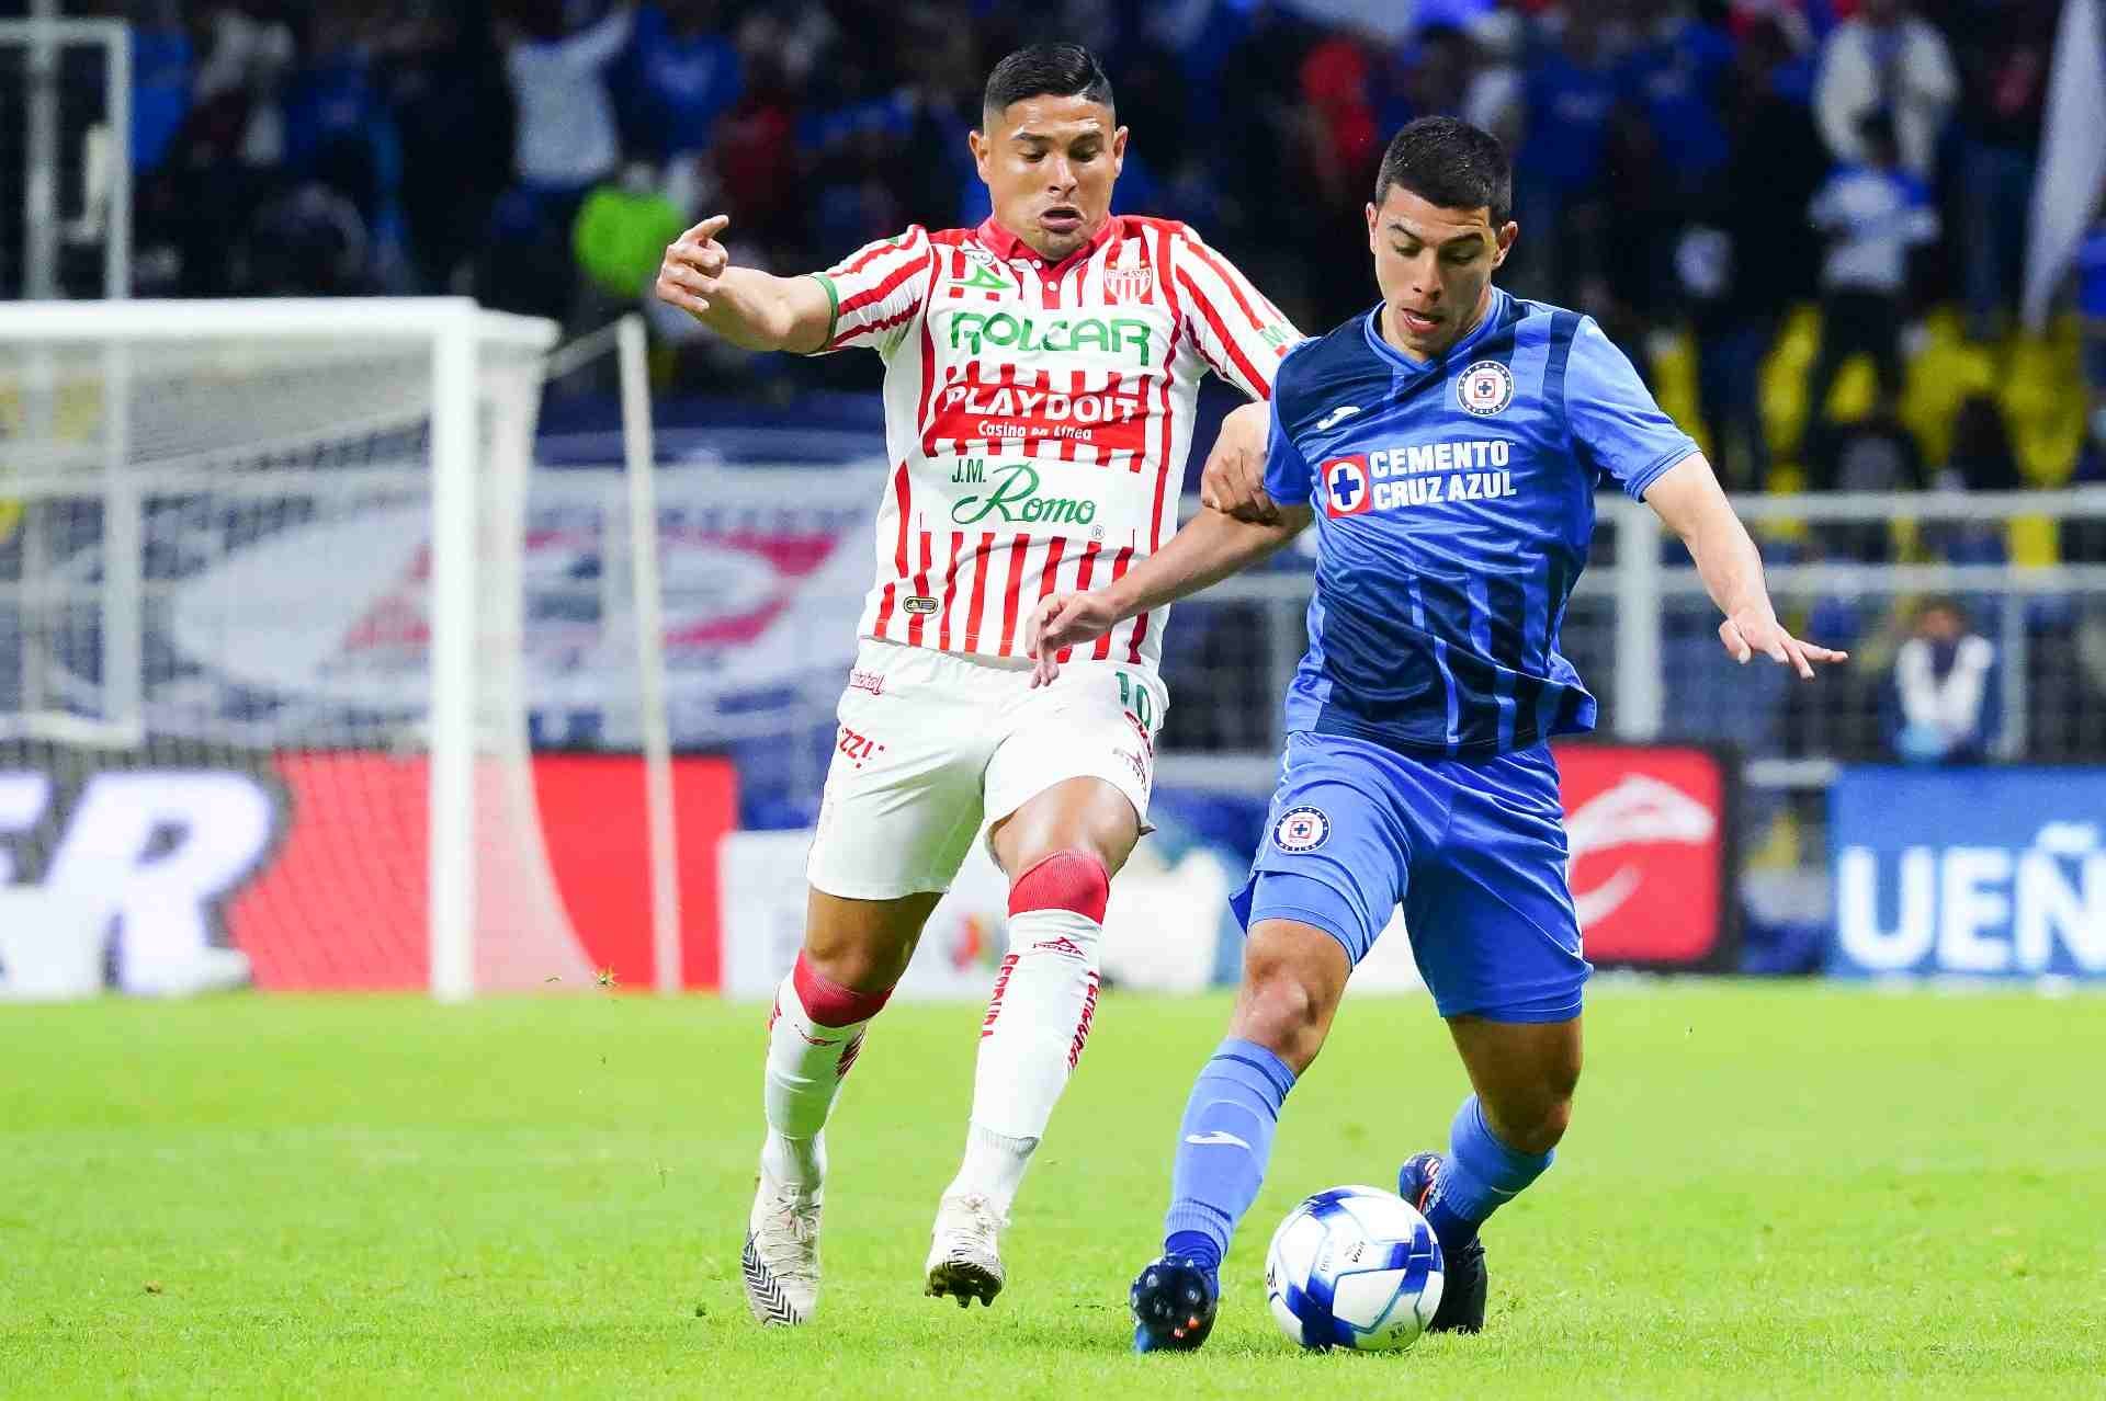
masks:
POLYGON ((1695 442, 1577 311, 1493 288, 1426 364, 1379 311, 1299 345, 1274 383, 1266 490, 1318 532, 1287 730, 1447 757, 1592 730, 1558 625, 1594 490, 1643 496, 1695 442))

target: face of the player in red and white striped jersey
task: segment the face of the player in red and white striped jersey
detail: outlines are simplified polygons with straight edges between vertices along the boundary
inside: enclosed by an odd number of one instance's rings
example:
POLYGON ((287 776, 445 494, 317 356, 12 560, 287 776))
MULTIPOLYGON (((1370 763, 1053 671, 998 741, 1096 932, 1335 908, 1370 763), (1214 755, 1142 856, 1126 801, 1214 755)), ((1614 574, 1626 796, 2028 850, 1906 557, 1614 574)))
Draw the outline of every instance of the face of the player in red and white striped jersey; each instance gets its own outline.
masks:
POLYGON ((1080 97, 1028 97, 986 114, 971 135, 994 217, 1038 257, 1061 261, 1112 215, 1112 185, 1127 162, 1127 128, 1080 97))

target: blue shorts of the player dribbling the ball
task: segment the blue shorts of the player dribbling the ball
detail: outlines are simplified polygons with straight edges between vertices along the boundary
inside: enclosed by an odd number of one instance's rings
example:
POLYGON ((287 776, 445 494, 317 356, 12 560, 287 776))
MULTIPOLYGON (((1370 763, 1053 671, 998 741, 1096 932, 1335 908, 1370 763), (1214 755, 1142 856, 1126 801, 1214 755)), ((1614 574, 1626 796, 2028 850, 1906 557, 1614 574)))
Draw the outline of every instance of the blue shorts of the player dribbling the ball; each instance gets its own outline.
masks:
POLYGON ((1354 963, 1403 905, 1441 1016, 1571 1020, 1594 972, 1565 884, 1548 745, 1413 759, 1337 734, 1291 734, 1251 877, 1230 905, 1245 930, 1312 923, 1354 963))

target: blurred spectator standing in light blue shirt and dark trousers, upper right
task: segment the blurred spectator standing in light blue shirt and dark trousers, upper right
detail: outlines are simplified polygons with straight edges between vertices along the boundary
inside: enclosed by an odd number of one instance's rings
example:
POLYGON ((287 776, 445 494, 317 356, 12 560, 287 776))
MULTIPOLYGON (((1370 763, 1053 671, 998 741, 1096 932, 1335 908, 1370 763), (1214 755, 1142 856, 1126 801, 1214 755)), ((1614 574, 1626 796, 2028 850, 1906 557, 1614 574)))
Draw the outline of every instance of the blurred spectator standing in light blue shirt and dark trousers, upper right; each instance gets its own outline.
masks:
POLYGON ((1807 423, 1828 417, 1836 370, 1872 356, 1879 393, 1902 398, 1902 297, 1908 250, 1938 236, 1931 196, 1895 166, 1893 124, 1872 114, 1860 124, 1864 164, 1839 166, 1807 215, 1832 244, 1822 267, 1822 349, 1807 372, 1807 423))

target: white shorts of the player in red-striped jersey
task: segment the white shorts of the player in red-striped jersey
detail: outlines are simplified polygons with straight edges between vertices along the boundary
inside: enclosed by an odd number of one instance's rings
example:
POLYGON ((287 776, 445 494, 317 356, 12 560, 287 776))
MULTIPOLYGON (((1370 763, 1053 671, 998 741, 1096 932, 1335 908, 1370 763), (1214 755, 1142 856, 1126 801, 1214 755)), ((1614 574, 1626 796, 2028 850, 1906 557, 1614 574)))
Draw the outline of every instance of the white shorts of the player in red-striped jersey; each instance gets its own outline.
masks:
POLYGON ((807 877, 849 900, 950 890, 986 823, 1066 778, 1104 778, 1141 831, 1169 692, 1146 667, 1032 665, 866 637, 840 692, 807 877))

